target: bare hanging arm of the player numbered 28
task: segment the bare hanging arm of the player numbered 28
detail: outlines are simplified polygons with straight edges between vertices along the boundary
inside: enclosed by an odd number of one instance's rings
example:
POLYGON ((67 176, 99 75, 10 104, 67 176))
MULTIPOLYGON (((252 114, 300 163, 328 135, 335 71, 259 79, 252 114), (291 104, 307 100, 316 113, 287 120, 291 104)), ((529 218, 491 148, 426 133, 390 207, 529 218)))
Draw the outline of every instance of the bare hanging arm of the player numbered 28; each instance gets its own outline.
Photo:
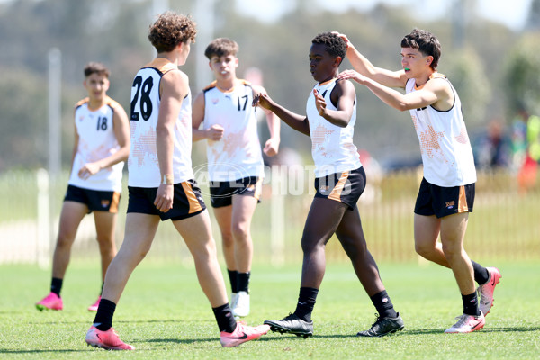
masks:
POLYGON ((173 130, 180 113, 182 101, 189 92, 187 76, 178 71, 167 72, 161 80, 159 116, 156 125, 157 161, 161 172, 161 183, 157 188, 156 205, 159 211, 169 211, 173 207, 173 130))

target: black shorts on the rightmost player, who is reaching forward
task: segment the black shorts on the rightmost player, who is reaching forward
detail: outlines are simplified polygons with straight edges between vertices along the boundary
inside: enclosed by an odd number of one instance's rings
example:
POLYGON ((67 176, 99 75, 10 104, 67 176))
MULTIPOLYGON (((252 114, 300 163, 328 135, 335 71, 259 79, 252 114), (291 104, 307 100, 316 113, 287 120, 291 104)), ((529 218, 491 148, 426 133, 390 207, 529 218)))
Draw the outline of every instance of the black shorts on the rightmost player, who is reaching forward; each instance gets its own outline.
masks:
POLYGON ((441 187, 422 178, 414 213, 443 218, 461 212, 473 212, 474 184, 441 187))

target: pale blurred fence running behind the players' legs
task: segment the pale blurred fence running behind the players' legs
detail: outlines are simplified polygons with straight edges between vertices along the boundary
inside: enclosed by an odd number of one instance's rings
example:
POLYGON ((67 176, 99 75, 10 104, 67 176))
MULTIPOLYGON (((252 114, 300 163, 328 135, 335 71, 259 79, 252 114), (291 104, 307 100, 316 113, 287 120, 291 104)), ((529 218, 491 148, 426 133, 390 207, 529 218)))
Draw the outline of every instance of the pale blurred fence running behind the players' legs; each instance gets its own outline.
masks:
MULTIPOLYGON (((267 168, 262 202, 252 223, 254 261, 275 266, 302 262, 303 224, 314 190, 312 175, 298 166, 267 168), (308 175, 306 175, 308 174, 308 175)), ((0 264, 34 263, 49 266, 58 231, 58 216, 67 188, 67 173, 48 181, 44 170, 18 171, 0 175, 0 264)), ((421 175, 408 171, 370 176, 369 188, 358 207, 362 216, 368 247, 379 261, 414 261, 412 208, 421 175)), ((207 187, 201 184, 207 204, 207 187)), ((514 175, 479 173, 474 212, 470 217, 465 247, 473 258, 509 260, 540 258, 540 185, 536 182, 527 193, 518 191, 514 175)), ((123 238, 127 187, 120 203, 116 242, 123 238)), ((209 206, 211 212, 211 207, 209 206)), ((211 214, 214 238, 220 248, 220 232, 211 214)), ((148 258, 176 261, 192 266, 192 258, 174 227, 166 221, 148 258)), ((98 257, 94 217, 82 221, 72 257, 98 257)), ((219 252, 221 257, 221 252, 219 252)), ((330 240, 327 257, 348 261, 338 241, 330 240)), ((222 258, 221 258, 222 260, 222 258)))

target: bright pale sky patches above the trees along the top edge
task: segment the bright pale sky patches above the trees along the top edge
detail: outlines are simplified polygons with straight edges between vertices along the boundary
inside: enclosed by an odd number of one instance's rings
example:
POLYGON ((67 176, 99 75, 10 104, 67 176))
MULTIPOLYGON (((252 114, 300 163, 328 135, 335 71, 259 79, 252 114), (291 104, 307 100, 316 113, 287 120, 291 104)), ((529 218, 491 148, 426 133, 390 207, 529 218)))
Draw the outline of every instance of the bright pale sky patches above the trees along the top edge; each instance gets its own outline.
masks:
MULTIPOLYGON (((449 13, 455 0, 311 0, 321 9, 343 13, 350 8, 365 11, 376 4, 406 5, 419 19, 441 18, 449 13)), ((471 17, 480 16, 494 22, 507 25, 513 30, 520 30, 527 20, 527 11, 532 0, 475 0, 471 17)), ((241 14, 257 17, 265 22, 274 22, 282 14, 292 9, 291 0, 237 0, 237 10, 241 14)))

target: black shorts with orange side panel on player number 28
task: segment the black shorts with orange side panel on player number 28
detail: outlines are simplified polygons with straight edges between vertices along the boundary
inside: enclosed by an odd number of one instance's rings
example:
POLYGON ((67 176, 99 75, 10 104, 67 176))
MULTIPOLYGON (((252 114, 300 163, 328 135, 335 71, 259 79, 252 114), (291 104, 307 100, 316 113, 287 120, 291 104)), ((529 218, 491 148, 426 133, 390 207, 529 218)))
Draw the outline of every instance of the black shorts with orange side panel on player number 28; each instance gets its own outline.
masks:
POLYGON ((128 186, 130 198, 128 200, 128 213, 139 212, 148 215, 159 215, 161 220, 183 220, 191 218, 206 209, 202 201, 201 189, 194 180, 187 180, 175 184, 175 198, 173 208, 169 211, 158 211, 156 200, 157 187, 128 186))

